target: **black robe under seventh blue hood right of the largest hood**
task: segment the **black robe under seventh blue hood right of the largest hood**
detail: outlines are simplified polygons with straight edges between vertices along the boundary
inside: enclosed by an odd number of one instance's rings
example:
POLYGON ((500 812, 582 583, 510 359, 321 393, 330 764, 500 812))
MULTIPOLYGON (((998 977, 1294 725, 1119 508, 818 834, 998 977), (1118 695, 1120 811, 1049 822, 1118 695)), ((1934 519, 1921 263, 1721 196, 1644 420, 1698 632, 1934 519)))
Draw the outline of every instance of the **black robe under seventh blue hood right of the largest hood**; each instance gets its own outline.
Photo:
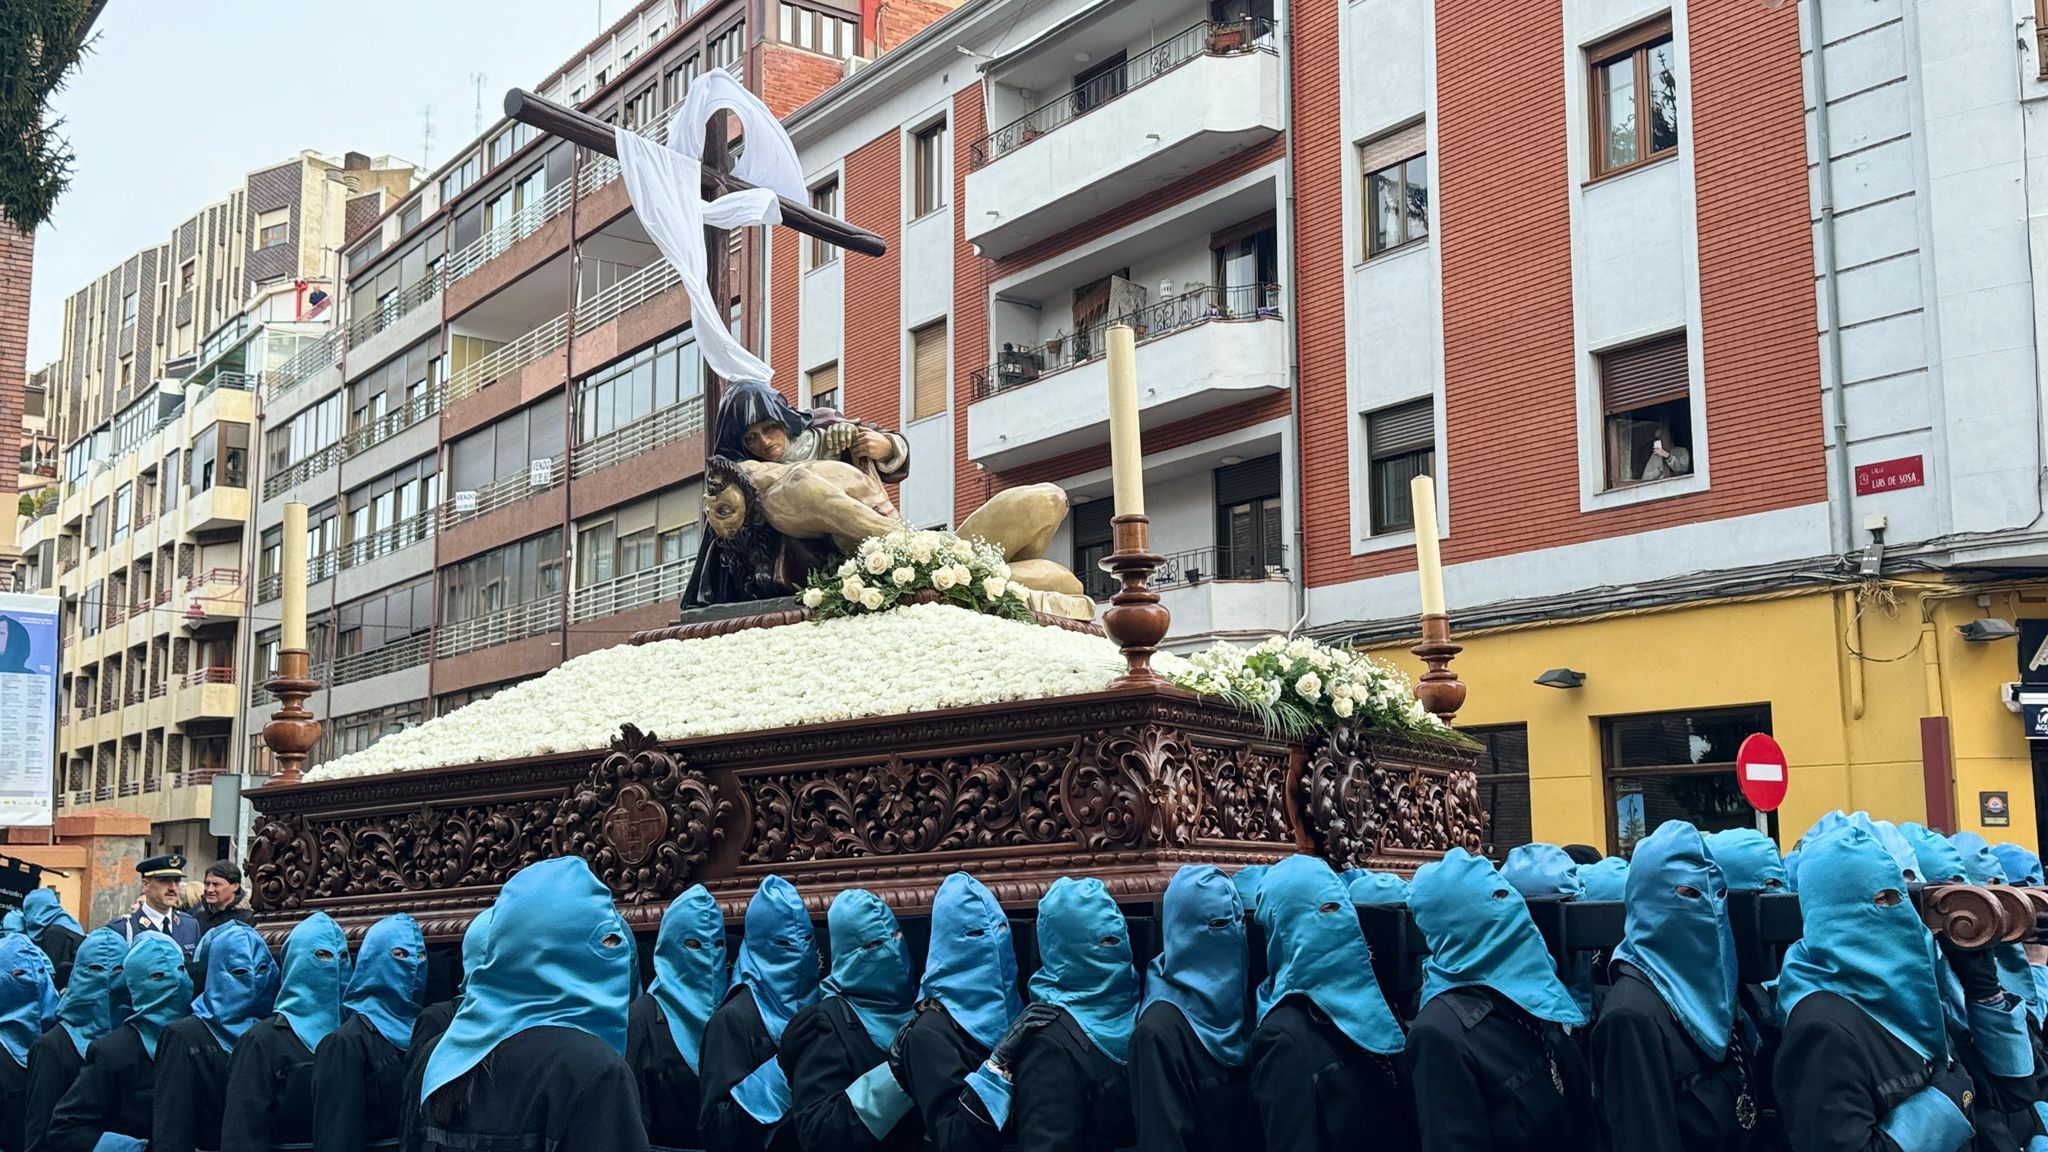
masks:
POLYGON ((1260 1117, 1266 1152, 1354 1148, 1366 1132, 1374 1148, 1415 1148, 1415 1105, 1397 1062, 1358 1047, 1307 996, 1280 1000, 1251 1033, 1251 1095, 1257 1109, 1245 1111, 1260 1117))

